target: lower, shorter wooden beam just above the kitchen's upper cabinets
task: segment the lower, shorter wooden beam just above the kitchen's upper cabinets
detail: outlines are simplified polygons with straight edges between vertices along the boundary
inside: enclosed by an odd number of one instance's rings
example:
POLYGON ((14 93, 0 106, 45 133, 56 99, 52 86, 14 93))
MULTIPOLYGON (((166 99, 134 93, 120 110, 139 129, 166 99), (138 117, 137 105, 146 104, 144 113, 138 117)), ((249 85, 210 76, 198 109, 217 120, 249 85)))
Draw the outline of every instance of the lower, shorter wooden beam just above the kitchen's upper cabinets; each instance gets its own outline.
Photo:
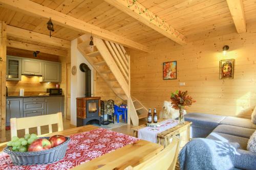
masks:
POLYGON ((15 41, 11 39, 7 39, 7 46, 22 49, 22 50, 40 51, 41 53, 52 54, 56 56, 63 56, 63 57, 68 56, 68 51, 66 50, 59 50, 59 49, 48 47, 48 46, 36 45, 36 44, 31 44, 31 43, 22 42, 22 41, 15 41))

